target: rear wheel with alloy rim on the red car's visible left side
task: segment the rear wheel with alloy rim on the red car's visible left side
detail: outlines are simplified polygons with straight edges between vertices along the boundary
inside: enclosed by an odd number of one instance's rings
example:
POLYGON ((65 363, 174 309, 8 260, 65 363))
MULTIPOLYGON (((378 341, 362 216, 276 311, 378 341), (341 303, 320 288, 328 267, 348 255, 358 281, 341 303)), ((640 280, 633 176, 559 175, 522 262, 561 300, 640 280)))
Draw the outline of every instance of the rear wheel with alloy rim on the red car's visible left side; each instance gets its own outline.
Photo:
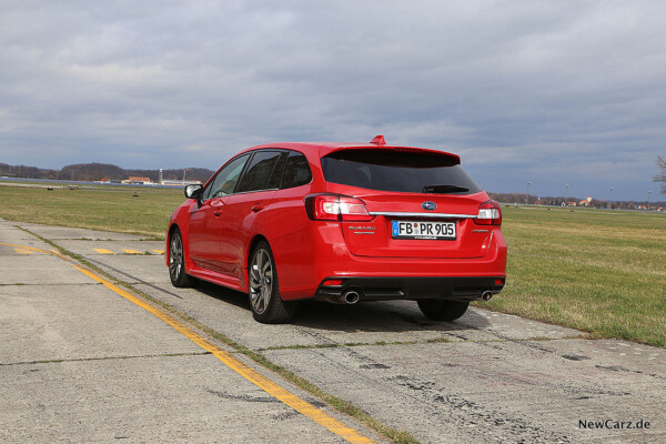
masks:
POLYGON ((256 244, 248 266, 248 295, 255 321, 281 324, 291 321, 295 302, 283 302, 280 296, 275 259, 268 242, 256 244))

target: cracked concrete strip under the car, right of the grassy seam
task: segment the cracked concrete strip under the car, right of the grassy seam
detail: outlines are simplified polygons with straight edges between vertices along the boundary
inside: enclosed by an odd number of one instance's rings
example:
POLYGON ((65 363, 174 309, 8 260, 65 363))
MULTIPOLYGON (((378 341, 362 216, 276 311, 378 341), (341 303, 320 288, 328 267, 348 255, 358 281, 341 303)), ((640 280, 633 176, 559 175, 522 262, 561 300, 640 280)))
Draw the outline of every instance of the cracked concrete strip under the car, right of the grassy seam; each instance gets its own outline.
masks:
MULTIPOLYGON (((109 250, 139 250, 150 242, 29 229, 47 239, 57 233, 58 244, 107 273, 423 443, 666 442, 663 349, 589 340, 576 330, 480 309, 456 322, 437 323, 423 317, 412 302, 305 303, 293 324, 263 325, 253 321, 242 293, 205 283, 172 287, 161 256, 91 250, 98 242, 109 250), (581 421, 606 420, 644 420, 650 428, 581 427, 581 421)), ((221 401, 250 396, 253 404, 273 404, 258 401, 265 394, 205 393, 221 401)), ((269 423, 291 415, 275 413, 269 423)))

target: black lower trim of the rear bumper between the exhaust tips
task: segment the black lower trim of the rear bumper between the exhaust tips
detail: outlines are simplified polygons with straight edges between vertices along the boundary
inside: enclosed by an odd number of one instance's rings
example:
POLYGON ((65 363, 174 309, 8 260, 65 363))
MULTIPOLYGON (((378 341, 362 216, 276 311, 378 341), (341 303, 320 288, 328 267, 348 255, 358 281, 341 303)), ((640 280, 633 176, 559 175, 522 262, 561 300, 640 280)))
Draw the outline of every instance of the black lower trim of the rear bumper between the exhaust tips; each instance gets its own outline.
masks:
POLYGON ((353 291, 361 301, 392 301, 438 299, 452 301, 475 301, 484 293, 497 294, 504 287, 504 276, 473 278, 337 278, 324 279, 314 299, 343 302, 341 297, 353 291), (342 281, 337 285, 326 285, 326 281, 342 281))

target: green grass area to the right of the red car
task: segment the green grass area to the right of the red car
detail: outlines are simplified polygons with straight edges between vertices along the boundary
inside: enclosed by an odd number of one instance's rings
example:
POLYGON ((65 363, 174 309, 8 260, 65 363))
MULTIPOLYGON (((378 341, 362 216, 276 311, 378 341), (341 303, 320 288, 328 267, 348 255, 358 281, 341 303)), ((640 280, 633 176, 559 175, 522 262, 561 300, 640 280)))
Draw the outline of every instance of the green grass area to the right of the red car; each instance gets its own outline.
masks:
POLYGON ((666 215, 502 210, 507 284, 480 306, 666 346, 666 215))

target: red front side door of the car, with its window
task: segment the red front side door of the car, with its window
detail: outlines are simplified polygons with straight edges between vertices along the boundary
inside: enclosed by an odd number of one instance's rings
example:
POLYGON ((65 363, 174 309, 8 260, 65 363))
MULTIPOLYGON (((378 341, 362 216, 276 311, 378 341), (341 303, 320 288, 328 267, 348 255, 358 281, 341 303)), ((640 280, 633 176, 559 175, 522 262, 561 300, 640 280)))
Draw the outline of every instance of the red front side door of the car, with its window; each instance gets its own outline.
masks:
POLYGON ((229 161, 203 190, 202 200, 192 208, 188 230, 190 258, 201 269, 224 272, 221 230, 226 223, 228 200, 234 192, 250 154, 229 161))

